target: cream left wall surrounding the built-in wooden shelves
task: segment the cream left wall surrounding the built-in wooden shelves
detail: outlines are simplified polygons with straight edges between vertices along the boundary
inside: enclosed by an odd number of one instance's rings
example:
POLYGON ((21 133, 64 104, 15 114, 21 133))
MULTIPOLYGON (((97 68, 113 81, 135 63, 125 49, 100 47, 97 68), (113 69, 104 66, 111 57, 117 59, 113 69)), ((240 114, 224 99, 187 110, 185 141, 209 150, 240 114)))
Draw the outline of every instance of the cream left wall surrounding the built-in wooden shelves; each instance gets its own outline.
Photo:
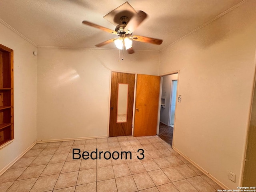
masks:
POLYGON ((0 24, 0 44, 14 50, 14 140, 0 149, 0 170, 36 141, 36 47, 0 24))

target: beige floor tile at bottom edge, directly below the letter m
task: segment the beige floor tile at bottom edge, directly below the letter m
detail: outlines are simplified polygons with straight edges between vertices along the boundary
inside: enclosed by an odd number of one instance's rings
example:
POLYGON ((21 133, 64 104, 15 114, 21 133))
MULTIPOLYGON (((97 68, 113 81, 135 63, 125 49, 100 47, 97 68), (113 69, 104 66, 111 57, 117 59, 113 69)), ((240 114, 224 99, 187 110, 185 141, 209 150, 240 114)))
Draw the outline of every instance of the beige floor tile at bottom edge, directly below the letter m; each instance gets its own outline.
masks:
POLYGON ((132 176, 116 178, 118 192, 136 192, 138 191, 132 176))

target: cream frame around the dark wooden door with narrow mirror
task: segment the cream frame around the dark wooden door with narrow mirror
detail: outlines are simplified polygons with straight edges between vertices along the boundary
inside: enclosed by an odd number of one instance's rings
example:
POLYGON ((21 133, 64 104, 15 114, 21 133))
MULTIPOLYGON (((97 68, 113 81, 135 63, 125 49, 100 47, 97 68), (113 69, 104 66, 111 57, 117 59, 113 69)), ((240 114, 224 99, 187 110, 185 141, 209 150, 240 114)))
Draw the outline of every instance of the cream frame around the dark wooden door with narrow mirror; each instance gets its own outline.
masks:
POLYGON ((119 70, 110 70, 110 80, 109 80, 109 94, 108 94, 108 126, 107 126, 107 137, 109 137, 109 118, 110 118, 110 99, 111 99, 111 82, 112 82, 112 72, 117 73, 128 73, 128 74, 135 74, 135 84, 134 84, 134 99, 133 99, 133 112, 132 112, 132 135, 134 132, 134 115, 135 115, 135 102, 136 102, 136 85, 137 85, 137 73, 130 72, 130 71, 119 71, 119 70))

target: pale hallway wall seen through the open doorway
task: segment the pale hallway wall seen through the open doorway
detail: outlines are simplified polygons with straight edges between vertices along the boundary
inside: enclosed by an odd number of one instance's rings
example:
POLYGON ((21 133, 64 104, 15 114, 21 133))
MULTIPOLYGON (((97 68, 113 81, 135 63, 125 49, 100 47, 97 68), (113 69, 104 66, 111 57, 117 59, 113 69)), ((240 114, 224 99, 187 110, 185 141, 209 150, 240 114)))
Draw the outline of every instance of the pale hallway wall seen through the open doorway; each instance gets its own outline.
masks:
POLYGON ((160 122, 169 126, 169 116, 170 116, 170 102, 171 102, 171 88, 172 81, 178 80, 178 74, 167 75, 163 77, 162 83, 162 98, 165 100, 165 108, 161 107, 160 112, 160 122))

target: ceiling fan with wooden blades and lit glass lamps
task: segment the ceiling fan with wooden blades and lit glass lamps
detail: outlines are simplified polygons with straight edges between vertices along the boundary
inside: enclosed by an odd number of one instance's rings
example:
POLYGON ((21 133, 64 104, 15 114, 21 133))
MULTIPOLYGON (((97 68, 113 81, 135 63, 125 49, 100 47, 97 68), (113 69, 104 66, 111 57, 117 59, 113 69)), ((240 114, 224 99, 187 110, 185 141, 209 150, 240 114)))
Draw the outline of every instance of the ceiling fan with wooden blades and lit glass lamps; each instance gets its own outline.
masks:
MULTIPOLYGON (((92 26, 94 28, 98 28, 105 32, 119 36, 117 38, 112 38, 110 40, 106 40, 104 42, 96 44, 95 45, 96 47, 101 47, 106 44, 114 42, 116 47, 119 50, 124 50, 125 48, 128 54, 132 54, 134 53, 134 50, 132 48, 132 40, 156 44, 156 45, 162 44, 163 41, 160 39, 138 36, 138 35, 132 36, 132 33, 136 30, 136 28, 146 19, 147 14, 145 12, 141 10, 139 12, 136 12, 128 2, 125 2, 124 4, 122 4, 121 6, 119 6, 118 8, 116 8, 115 10, 107 14, 106 16, 109 16, 109 15, 111 16, 111 14, 112 14, 112 19, 114 18, 114 20, 116 20, 116 17, 120 18, 119 24, 116 21, 114 22, 114 24, 118 24, 115 30, 111 30, 85 20, 82 22, 85 25, 92 26), (128 9, 132 9, 132 11, 128 9)), ((106 16, 104 16, 104 18, 106 16)))

